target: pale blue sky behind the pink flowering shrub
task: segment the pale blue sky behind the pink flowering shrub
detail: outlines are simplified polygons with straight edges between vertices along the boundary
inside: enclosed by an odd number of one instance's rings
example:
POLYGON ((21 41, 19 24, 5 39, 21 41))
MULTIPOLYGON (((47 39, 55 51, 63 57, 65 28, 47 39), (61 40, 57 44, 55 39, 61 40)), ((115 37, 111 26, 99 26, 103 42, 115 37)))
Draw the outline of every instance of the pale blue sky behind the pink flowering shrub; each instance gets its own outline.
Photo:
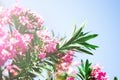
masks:
MULTIPOLYGON (((15 0, 0 0, 5 7, 15 0)), ((38 12, 44 17, 45 25, 56 35, 69 35, 76 23, 79 27, 87 22, 85 31, 98 33, 92 40, 100 46, 94 56, 77 54, 77 59, 90 59, 100 63, 110 78, 120 79, 120 0, 19 0, 20 5, 38 12)))

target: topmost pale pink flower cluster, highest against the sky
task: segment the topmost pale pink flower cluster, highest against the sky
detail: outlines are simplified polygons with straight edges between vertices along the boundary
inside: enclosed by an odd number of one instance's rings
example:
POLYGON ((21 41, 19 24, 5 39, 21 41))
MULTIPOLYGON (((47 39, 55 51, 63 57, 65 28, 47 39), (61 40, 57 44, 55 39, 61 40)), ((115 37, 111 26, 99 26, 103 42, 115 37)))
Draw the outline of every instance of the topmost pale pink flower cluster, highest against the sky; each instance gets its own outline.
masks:
POLYGON ((33 14, 32 11, 24 9, 16 4, 10 9, 0 9, 0 25, 14 25, 14 18, 19 19, 17 22, 22 25, 27 24, 26 27, 28 29, 34 28, 35 26, 40 28, 44 23, 42 16, 33 14))

